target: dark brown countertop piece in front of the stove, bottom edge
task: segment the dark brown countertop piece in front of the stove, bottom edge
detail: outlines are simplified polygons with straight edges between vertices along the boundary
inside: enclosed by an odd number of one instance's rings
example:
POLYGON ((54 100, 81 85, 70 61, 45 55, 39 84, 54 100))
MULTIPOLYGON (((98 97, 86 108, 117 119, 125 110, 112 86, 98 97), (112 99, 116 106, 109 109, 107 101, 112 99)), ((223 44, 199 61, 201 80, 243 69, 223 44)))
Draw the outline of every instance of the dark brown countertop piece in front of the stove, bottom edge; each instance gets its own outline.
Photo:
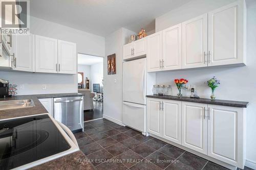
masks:
POLYGON ((88 158, 81 152, 77 151, 72 154, 62 156, 52 161, 34 166, 31 170, 45 170, 45 169, 96 169, 88 158), (79 161, 78 161, 79 160, 79 161))

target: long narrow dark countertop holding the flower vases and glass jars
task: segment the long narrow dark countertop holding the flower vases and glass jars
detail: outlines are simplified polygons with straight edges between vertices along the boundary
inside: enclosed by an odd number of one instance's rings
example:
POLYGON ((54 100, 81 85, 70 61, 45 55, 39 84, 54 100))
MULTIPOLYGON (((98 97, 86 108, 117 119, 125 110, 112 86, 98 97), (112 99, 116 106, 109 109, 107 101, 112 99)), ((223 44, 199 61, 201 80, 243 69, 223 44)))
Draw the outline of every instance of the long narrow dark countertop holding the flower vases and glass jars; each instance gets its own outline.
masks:
POLYGON ((210 100, 210 99, 204 99, 204 98, 200 98, 200 99, 188 98, 188 97, 178 98, 177 96, 173 96, 173 95, 147 95, 147 98, 158 98, 158 99, 205 103, 205 104, 211 104, 211 105, 221 105, 221 106, 231 106, 231 107, 243 107, 243 108, 246 108, 249 104, 248 102, 210 100))

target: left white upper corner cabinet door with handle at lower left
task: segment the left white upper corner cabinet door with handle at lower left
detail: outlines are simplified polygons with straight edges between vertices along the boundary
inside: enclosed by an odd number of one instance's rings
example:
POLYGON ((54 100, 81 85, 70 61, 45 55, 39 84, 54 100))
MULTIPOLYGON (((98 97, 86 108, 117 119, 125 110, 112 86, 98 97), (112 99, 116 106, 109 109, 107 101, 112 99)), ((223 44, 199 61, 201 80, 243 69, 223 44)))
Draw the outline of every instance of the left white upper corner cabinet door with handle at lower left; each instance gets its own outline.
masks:
POLYGON ((14 70, 35 71, 35 35, 13 35, 14 70))

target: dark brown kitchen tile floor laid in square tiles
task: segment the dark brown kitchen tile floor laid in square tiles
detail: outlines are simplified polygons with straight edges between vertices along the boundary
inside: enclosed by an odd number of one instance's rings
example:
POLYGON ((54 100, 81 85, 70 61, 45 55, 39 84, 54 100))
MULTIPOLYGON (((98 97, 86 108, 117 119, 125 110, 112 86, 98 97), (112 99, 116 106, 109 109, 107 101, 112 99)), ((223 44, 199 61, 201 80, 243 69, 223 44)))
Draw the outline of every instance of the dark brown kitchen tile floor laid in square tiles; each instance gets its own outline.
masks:
POLYGON ((96 169, 227 169, 106 119, 84 123, 75 137, 96 169))

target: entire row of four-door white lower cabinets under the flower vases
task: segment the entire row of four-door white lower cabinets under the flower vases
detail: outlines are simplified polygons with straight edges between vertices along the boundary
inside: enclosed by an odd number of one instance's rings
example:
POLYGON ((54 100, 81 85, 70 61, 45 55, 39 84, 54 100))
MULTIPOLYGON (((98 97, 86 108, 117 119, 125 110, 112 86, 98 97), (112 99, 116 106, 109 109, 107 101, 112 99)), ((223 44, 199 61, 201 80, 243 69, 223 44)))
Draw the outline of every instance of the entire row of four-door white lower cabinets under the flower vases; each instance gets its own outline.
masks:
POLYGON ((244 168, 246 108, 147 98, 147 132, 244 168))

